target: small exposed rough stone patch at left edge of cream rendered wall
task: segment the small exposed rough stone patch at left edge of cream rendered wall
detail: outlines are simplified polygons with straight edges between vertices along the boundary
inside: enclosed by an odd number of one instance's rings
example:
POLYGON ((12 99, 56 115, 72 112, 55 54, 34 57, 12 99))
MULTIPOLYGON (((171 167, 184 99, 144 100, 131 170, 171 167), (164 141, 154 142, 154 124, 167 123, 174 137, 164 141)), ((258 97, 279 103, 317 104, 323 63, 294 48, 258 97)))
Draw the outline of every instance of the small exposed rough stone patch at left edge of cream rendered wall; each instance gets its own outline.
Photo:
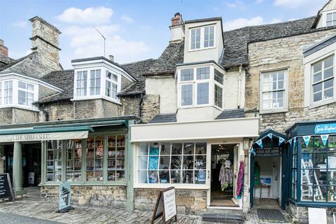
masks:
POLYGON ((157 114, 160 113, 160 96, 159 95, 144 95, 141 104, 141 120, 148 123, 157 114))

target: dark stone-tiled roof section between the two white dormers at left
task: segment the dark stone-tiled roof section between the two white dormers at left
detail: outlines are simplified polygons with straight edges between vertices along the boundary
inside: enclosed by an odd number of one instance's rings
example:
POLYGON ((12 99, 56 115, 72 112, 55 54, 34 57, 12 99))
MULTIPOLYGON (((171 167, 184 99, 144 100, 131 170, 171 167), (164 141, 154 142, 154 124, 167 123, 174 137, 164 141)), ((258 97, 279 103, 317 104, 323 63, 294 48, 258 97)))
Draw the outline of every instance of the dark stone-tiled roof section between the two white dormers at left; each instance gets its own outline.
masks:
POLYGON ((42 77, 47 83, 55 85, 56 87, 64 90, 57 94, 52 94, 51 96, 40 99, 36 104, 46 104, 52 102, 62 102, 69 101, 73 98, 73 69, 69 70, 60 70, 60 71, 51 71, 42 77))

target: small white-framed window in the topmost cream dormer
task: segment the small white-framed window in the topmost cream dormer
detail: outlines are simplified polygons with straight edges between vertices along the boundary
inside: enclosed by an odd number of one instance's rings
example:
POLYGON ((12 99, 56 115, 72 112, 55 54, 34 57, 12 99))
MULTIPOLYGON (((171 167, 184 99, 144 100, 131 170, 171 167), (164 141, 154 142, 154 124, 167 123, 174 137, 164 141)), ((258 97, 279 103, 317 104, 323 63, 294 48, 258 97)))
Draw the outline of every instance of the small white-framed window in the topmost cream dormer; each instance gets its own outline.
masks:
POLYGON ((190 50, 214 47, 214 36, 214 25, 190 29, 190 50))

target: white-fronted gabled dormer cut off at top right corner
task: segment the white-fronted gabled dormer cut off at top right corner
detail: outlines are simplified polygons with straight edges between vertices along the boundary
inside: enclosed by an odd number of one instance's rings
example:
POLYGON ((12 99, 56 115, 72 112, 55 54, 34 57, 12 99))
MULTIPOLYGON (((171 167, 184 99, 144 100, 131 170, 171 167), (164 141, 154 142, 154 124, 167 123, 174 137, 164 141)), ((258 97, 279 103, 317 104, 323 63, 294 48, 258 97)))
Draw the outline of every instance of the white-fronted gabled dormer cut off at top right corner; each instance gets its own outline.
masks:
POLYGON ((318 11, 314 28, 336 26, 336 0, 329 0, 328 3, 318 11))

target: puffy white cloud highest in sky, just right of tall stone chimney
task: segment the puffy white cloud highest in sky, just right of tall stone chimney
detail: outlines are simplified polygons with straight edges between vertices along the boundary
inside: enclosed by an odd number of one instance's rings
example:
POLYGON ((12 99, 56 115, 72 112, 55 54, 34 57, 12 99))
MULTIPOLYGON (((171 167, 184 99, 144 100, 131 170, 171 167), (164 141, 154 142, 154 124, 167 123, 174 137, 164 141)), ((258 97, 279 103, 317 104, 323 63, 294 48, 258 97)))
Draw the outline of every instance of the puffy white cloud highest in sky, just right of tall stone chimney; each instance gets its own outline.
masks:
POLYGON ((62 22, 102 24, 109 22, 112 15, 113 10, 104 6, 84 10, 72 7, 64 10, 61 15, 57 16, 57 19, 62 22))

